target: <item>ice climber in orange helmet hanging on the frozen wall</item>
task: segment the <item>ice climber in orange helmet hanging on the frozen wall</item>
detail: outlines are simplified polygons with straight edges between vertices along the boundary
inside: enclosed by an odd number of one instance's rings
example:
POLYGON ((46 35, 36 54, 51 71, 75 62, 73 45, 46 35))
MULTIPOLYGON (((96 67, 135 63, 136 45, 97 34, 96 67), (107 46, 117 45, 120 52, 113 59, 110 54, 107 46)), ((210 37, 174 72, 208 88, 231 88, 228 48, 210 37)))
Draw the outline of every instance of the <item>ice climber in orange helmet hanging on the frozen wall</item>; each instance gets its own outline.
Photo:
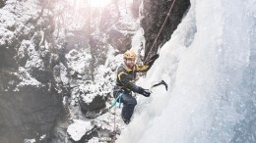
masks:
POLYGON ((146 66, 138 66, 135 64, 136 54, 132 50, 128 50, 123 54, 123 64, 117 69, 116 85, 114 86, 113 96, 120 97, 120 102, 123 103, 121 117, 126 124, 130 122, 134 108, 137 105, 136 99, 132 96, 132 91, 149 97, 151 92, 137 86, 134 82, 136 73, 148 71, 153 63, 159 58, 159 55, 153 56, 146 66))

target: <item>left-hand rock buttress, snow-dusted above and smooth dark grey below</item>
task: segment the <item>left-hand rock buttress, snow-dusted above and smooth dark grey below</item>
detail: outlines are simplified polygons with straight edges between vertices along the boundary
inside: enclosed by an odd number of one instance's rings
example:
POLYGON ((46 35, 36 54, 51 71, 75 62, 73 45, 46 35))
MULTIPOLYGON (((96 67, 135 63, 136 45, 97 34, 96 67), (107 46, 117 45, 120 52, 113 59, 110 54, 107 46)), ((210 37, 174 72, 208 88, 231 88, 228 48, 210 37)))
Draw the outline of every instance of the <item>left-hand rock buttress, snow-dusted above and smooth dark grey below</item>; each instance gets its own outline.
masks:
POLYGON ((47 135, 61 113, 52 20, 34 0, 10 0, 0 9, 1 142, 47 135))

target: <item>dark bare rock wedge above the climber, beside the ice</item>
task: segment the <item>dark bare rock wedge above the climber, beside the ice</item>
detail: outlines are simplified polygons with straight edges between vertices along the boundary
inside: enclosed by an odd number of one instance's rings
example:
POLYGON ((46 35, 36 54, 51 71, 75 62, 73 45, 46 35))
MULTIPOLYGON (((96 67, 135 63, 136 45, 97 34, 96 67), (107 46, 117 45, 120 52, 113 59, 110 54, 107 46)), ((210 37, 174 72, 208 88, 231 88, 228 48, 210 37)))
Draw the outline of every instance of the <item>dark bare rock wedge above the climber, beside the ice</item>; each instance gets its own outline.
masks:
POLYGON ((146 39, 145 55, 148 55, 145 56, 145 63, 149 61, 150 57, 158 52, 159 47, 169 40, 172 32, 176 29, 177 25, 180 24, 182 17, 189 6, 189 0, 143 0, 143 19, 141 20, 141 26, 144 29, 144 36, 146 39), (160 27, 168 15, 172 4, 173 7, 160 32, 160 27), (159 32, 160 36, 153 47, 159 32))

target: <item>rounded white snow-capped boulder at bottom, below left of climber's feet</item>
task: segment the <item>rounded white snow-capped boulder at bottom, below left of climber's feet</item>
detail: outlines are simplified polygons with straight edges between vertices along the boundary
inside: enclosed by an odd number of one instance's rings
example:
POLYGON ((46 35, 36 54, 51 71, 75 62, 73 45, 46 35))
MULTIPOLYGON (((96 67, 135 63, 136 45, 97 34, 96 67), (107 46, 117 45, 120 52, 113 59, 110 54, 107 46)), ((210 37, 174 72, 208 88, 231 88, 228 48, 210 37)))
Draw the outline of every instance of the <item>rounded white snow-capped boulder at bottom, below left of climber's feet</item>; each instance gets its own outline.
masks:
POLYGON ((70 124, 67 132, 74 141, 79 141, 87 132, 90 132, 94 126, 91 121, 74 119, 74 123, 70 124))

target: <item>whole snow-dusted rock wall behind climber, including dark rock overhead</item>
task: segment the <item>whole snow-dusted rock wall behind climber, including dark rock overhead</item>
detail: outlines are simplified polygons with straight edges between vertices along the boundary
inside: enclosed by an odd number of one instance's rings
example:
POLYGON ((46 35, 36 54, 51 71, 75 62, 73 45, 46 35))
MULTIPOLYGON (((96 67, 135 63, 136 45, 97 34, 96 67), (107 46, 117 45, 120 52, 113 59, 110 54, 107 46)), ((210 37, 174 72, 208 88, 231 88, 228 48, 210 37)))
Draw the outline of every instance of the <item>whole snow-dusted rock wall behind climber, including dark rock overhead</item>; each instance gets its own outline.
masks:
MULTIPOLYGON (((89 1, 76 7, 79 1, 0 0, 0 142, 40 137, 63 142, 70 120, 63 125, 56 121, 60 116, 100 116, 112 100, 113 74, 122 62, 118 54, 132 47, 140 28, 139 9, 147 57, 170 38, 189 6, 188 0, 175 2, 150 51, 172 1, 143 1, 140 7, 142 1, 113 0, 105 8, 91 8, 89 1), (87 103, 87 98, 94 100, 87 103)), ((135 48, 142 49, 140 42, 135 48)))

